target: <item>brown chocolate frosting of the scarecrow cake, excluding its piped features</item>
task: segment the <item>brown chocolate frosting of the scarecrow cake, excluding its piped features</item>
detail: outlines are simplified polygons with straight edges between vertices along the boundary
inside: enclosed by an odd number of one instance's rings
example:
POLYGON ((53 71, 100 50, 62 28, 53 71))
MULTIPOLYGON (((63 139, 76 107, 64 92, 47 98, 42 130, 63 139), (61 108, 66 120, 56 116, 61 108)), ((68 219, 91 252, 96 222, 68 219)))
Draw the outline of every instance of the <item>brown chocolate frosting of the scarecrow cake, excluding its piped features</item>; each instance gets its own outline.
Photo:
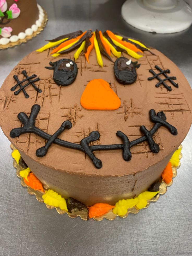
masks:
MULTIPOLYGON (((88 64, 84 56, 77 59, 78 74, 73 84, 58 86, 53 81, 53 70, 45 69, 49 62, 61 58, 74 59, 74 52, 63 54, 57 58, 49 55, 49 51, 32 52, 21 60, 5 79, 0 89, 0 125, 10 142, 19 150, 23 160, 32 172, 43 182, 46 188, 51 188, 65 198, 92 205, 94 203, 114 204, 119 199, 133 198, 161 176, 173 152, 178 148, 188 133, 191 125, 192 91, 179 68, 162 53, 153 50, 156 55, 145 52, 136 70, 137 80, 131 85, 119 84, 113 73, 113 64, 103 57, 104 66, 99 67, 93 49, 88 64), (149 69, 158 65, 170 69, 170 76, 176 76, 179 87, 167 91, 164 86, 155 87, 156 79, 148 81, 152 76, 149 69), (40 81, 36 82, 42 93, 32 86, 26 87, 29 98, 20 92, 17 96, 10 91, 16 82, 13 75, 23 79, 22 70, 27 75, 36 74, 40 81), (104 79, 110 83, 112 90, 121 99, 121 107, 116 110, 87 110, 80 105, 80 98, 85 86, 92 79, 104 79), (96 169, 91 159, 85 153, 52 144, 46 156, 38 158, 35 155, 39 147, 45 145, 45 140, 35 134, 22 134, 19 138, 10 138, 13 128, 21 127, 17 115, 25 112, 28 116, 33 104, 39 104, 41 109, 35 125, 54 134, 65 120, 72 122, 72 128, 65 130, 60 139, 80 143, 92 131, 100 133, 99 140, 91 145, 118 144, 122 140, 116 136, 121 130, 130 141, 143 134, 139 127, 145 125, 150 130, 154 123, 149 119, 149 110, 164 111, 167 122, 178 130, 178 135, 172 135, 165 127, 160 127, 153 135, 160 147, 160 152, 150 151, 147 141, 131 148, 132 158, 129 162, 123 160, 122 150, 96 151, 95 156, 102 160, 103 167, 96 169)), ((130 59, 126 53, 122 56, 130 59)), ((113 58, 115 61, 115 58, 113 58)), ((136 61, 132 58, 132 61, 136 61)), ((156 72, 157 73, 157 72, 156 72)), ((163 75, 162 75, 163 79, 163 75)))

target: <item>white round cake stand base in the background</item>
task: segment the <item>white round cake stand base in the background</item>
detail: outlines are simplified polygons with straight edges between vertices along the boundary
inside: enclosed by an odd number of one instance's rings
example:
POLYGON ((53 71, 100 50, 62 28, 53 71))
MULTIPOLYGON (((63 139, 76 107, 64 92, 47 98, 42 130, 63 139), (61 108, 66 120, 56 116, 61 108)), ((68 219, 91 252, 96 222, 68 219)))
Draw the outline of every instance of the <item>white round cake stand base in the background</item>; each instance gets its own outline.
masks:
POLYGON ((183 31, 192 23, 192 10, 183 0, 127 0, 121 13, 131 26, 160 34, 183 31))

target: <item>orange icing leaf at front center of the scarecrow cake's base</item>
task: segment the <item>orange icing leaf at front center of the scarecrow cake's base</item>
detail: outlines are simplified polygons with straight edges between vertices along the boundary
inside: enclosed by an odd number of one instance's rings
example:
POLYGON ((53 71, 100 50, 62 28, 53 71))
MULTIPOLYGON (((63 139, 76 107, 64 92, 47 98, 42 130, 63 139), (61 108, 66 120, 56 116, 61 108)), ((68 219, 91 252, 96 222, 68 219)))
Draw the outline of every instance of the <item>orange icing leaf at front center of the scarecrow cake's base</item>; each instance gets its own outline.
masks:
POLYGON ((99 217, 107 213, 109 210, 113 209, 115 205, 98 203, 89 207, 89 218, 99 217))

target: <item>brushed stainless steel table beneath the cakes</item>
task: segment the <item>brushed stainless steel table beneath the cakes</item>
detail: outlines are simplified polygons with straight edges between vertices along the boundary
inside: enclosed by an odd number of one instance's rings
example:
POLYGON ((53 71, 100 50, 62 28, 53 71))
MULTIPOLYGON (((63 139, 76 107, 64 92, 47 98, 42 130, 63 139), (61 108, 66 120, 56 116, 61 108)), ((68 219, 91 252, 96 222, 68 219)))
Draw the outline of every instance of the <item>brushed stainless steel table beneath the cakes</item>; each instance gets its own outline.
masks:
MULTIPOLYGON (((20 0, 23 1, 23 0, 20 0)), ((182 70, 192 84, 192 27, 160 35, 128 26, 121 18, 124 0, 39 0, 47 10, 45 30, 27 44, 0 51, 0 85, 11 69, 45 39, 76 30, 110 29, 143 40, 182 70)), ((192 255, 192 129, 183 145, 178 175, 157 203, 127 219, 88 222, 46 209, 22 188, 0 132, 0 255, 192 255)))

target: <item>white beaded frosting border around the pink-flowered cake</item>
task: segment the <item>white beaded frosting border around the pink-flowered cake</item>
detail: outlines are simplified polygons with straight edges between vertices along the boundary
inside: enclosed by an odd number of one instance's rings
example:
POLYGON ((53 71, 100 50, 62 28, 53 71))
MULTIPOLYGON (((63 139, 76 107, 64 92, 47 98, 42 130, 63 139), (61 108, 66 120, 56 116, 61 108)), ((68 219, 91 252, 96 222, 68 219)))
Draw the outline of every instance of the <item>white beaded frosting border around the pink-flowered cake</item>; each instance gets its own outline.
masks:
POLYGON ((42 23, 43 23, 43 20, 44 20, 44 11, 43 11, 43 8, 37 4, 37 7, 39 9, 39 19, 35 21, 35 24, 33 24, 31 26, 31 28, 27 28, 25 30, 25 33, 24 32, 20 32, 18 35, 11 35, 10 38, 5 38, 5 37, 2 37, 0 39, 0 45, 6 45, 8 43, 15 43, 17 42, 19 39, 25 39, 26 36, 28 35, 32 35, 34 32, 36 32, 38 30, 39 27, 41 27, 42 23))

